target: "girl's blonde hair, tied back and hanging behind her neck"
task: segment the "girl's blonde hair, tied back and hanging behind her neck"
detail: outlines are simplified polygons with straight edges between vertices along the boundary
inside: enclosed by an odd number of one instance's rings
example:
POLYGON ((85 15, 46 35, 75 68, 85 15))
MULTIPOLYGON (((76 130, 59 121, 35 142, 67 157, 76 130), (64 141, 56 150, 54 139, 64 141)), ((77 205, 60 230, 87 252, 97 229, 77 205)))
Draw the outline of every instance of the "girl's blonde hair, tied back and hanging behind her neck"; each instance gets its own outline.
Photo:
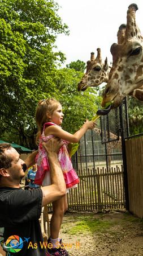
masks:
POLYGON ((49 98, 46 100, 41 100, 38 102, 38 106, 36 108, 36 123, 38 127, 38 133, 36 135, 36 143, 38 143, 38 140, 40 138, 40 135, 42 133, 44 123, 49 122, 49 118, 47 117, 47 113, 50 115, 53 114, 53 112, 58 108, 60 102, 57 100, 54 100, 54 98, 49 98))

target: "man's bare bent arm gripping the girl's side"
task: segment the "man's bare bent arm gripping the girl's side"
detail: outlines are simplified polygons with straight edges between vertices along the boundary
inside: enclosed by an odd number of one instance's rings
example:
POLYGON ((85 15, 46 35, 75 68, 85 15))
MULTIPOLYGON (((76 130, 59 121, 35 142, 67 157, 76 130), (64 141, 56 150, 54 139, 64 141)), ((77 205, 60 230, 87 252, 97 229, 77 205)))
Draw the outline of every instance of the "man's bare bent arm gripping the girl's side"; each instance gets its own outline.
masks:
POLYGON ((57 157, 57 152, 62 145, 63 142, 59 138, 52 138, 47 143, 43 142, 50 165, 51 185, 41 188, 43 192, 42 206, 66 195, 66 184, 57 157))

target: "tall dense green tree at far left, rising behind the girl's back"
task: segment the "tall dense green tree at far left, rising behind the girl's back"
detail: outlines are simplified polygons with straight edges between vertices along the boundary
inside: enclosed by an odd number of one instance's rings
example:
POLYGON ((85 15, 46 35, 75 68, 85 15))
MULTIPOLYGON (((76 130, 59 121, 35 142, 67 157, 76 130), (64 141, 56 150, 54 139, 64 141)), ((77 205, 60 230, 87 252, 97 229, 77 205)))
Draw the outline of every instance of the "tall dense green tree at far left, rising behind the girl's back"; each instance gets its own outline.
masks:
POLYGON ((53 51, 57 34, 68 34, 57 11, 52 0, 0 0, 1 136, 14 133, 29 147, 37 101, 56 94, 56 64, 65 59, 53 51))

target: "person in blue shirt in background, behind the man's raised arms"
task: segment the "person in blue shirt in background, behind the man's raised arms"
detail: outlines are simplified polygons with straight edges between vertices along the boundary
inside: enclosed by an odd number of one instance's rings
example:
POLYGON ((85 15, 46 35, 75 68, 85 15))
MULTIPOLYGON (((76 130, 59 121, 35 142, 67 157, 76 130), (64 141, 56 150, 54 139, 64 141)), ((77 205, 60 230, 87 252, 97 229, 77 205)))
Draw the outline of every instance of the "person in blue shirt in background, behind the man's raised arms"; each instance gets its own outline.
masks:
POLYGON ((30 189, 40 187, 40 185, 34 184, 36 171, 37 171, 37 166, 36 166, 36 164, 33 164, 33 167, 28 171, 28 174, 26 177, 30 189))

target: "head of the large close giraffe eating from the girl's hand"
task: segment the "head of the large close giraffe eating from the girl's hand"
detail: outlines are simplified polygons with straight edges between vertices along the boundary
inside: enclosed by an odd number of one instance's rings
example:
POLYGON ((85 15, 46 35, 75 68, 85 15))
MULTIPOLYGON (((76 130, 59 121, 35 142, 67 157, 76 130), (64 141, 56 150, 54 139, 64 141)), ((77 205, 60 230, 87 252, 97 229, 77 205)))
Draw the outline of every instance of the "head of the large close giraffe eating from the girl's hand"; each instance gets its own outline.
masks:
POLYGON ((136 24, 136 4, 128 7, 127 26, 121 42, 112 44, 112 68, 102 106, 114 101, 112 108, 120 105, 123 98, 143 84, 143 38, 136 24))

